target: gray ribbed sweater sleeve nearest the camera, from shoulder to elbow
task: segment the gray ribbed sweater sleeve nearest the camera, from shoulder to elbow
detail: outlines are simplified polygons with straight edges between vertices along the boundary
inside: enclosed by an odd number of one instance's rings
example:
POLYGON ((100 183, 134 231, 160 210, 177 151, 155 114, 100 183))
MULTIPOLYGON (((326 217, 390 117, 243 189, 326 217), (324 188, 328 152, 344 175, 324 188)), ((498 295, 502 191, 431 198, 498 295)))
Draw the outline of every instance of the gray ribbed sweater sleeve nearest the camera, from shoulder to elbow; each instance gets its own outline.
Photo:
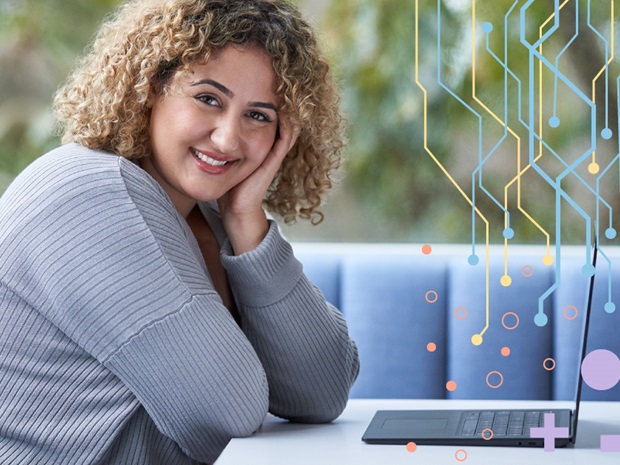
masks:
POLYGON ((261 361, 141 169, 66 147, 26 170, 2 208, 3 281, 118 376, 188 456, 212 462, 260 426, 261 361))

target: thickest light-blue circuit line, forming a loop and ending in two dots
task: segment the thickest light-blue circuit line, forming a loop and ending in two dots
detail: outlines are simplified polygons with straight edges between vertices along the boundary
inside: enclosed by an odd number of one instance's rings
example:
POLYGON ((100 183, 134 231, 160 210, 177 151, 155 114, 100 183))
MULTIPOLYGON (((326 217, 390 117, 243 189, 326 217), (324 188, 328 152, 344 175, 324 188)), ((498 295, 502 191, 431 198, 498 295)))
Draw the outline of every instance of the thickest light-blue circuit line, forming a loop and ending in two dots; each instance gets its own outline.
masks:
MULTIPOLYGON (((549 185, 551 185, 552 187, 554 187, 555 192, 556 192, 556 279, 555 279, 555 283, 539 298, 538 300, 538 313, 534 318, 534 322, 538 325, 538 326, 545 326, 548 322, 548 317, 547 315, 545 315, 544 313, 544 302, 549 298, 549 296, 555 292, 557 290, 557 288, 559 287, 560 283, 561 283, 561 272, 560 272, 560 265, 561 265, 561 253, 560 253, 560 247, 561 247, 561 201, 562 199, 566 200, 577 212, 579 212, 579 214, 585 219, 586 221, 586 242, 587 244, 591 243, 591 218, 573 201, 573 199, 561 188, 561 182, 562 180, 568 176, 568 174, 570 174, 573 171, 573 167, 577 167, 578 165, 580 165, 589 155, 591 155, 594 151, 594 147, 596 147, 596 107, 594 105, 594 102, 592 102, 590 99, 588 99, 578 88, 576 88, 572 82, 570 82, 570 80, 568 80, 556 67, 553 66, 553 64, 551 64, 549 62, 549 60, 547 60, 544 56, 542 56, 540 53, 538 53, 536 51, 536 49, 545 41, 547 40, 548 37, 551 36, 551 34, 553 34, 553 32, 555 32, 558 27, 559 27, 559 0, 554 0, 554 11, 555 11, 555 18, 554 18, 554 24, 553 26, 547 31, 546 34, 544 34, 535 44, 530 44, 526 37, 525 37, 525 24, 526 24, 526 19, 525 19, 525 14, 527 12, 527 10, 529 9, 529 7, 532 5, 532 3, 534 2, 534 0, 528 0, 528 2, 521 8, 520 14, 521 14, 521 43, 529 50, 529 88, 530 88, 530 96, 529 96, 529 127, 530 127, 530 131, 529 131, 529 159, 530 159, 530 165, 532 166, 532 168, 534 168, 534 170, 539 173, 539 175, 545 179, 549 185), (591 147, 590 149, 583 154, 581 157, 579 157, 579 159, 577 160, 577 162, 575 162, 573 165, 571 165, 571 167, 569 167, 569 169, 567 169, 566 171, 564 171, 563 173, 561 173, 556 180, 552 180, 547 173, 544 172, 544 170, 542 170, 540 168, 540 166, 538 166, 534 160, 534 141, 536 139, 536 134, 535 131, 532 129, 534 126, 534 122, 535 122, 535 114, 534 114, 534 91, 533 89, 535 88, 535 81, 534 81, 534 59, 538 59, 540 62, 542 62, 549 70, 551 70, 552 72, 554 72, 557 77, 559 77, 571 90, 573 90, 573 92, 575 92, 575 94, 581 98, 586 105, 588 105, 590 107, 590 111, 591 111, 591 127, 592 129, 592 143, 591 143, 591 147)), ((587 257, 587 263, 591 262, 591 251, 589 250, 589 247, 586 247, 586 257, 587 257)), ((584 266, 584 274, 592 274, 594 272, 594 270, 592 270, 592 266, 591 265, 585 265, 584 266)))

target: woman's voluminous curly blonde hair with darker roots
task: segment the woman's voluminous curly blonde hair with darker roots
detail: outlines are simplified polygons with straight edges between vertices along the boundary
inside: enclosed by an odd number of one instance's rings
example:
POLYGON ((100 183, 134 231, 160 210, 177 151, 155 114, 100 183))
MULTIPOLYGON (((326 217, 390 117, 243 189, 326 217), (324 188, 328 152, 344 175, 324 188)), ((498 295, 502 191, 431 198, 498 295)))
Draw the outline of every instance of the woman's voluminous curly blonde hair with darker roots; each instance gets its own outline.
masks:
POLYGON ((286 0, 134 0, 103 24, 54 99, 62 142, 149 156, 149 95, 228 45, 272 58, 282 111, 301 133, 265 196, 287 223, 318 224, 345 144, 340 96, 310 25, 286 0))

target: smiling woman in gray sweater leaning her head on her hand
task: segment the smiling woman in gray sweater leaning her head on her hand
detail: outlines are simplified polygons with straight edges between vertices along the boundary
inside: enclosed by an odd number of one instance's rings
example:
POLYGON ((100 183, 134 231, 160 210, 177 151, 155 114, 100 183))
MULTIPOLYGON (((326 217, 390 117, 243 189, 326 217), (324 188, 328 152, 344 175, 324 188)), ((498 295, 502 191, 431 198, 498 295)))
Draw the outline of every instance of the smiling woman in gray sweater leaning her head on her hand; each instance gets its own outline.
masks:
POLYGON ((322 219, 338 96, 285 0, 124 4, 0 199, 0 463, 212 463, 359 370, 263 205, 322 219))

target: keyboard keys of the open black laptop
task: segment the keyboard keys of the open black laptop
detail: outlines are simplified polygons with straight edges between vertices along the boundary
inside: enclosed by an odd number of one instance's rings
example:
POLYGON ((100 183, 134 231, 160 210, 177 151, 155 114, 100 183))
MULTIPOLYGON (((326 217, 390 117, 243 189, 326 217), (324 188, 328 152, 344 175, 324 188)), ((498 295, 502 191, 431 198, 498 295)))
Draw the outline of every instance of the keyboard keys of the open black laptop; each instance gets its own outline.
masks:
POLYGON ((543 411, 482 411, 467 412, 461 436, 529 437, 530 428, 542 426, 543 411))

